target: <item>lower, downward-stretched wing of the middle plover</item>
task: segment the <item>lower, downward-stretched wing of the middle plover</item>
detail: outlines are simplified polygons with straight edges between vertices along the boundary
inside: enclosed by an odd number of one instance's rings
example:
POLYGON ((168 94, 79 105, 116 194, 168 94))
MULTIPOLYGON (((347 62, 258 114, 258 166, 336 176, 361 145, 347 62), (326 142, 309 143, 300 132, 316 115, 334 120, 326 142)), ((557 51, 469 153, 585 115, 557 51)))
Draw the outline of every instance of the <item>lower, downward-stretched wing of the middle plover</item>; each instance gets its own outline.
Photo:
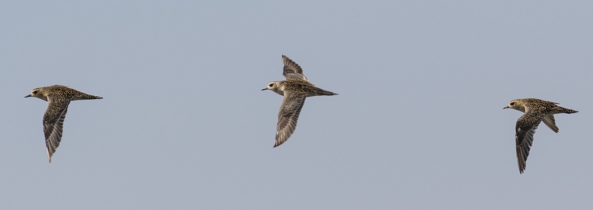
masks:
POLYGON ((278 112, 278 125, 276 126, 276 143, 278 147, 286 142, 297 128, 297 120, 303 104, 305 104, 307 93, 294 93, 284 91, 284 100, 278 112))

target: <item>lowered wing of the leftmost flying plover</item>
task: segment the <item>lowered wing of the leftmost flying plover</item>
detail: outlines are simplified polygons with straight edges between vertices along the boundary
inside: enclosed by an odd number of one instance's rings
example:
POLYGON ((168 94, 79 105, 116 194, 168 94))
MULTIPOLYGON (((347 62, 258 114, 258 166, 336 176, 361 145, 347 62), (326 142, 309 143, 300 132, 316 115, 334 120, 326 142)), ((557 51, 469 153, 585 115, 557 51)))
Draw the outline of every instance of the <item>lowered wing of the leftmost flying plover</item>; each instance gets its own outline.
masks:
POLYGON ((62 128, 66 112, 68 112, 68 104, 70 104, 70 100, 47 98, 47 109, 43 114, 43 133, 45 134, 47 158, 50 163, 52 163, 53 152, 56 151, 62 140, 62 128))

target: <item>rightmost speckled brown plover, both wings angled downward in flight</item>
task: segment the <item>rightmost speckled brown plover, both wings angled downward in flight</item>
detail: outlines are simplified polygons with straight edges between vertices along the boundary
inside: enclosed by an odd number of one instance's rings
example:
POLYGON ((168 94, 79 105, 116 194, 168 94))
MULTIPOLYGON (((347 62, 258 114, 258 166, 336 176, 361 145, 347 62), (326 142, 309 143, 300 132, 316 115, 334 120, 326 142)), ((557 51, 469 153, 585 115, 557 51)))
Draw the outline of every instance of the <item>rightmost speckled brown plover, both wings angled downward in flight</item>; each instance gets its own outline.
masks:
POLYGON ((535 129, 540 125, 540 122, 544 122, 554 132, 558 132, 559 129, 556 126, 556 120, 554 120, 554 114, 558 113, 577 113, 578 111, 572 109, 566 109, 565 107, 556 106, 551 101, 544 101, 537 98, 524 98, 512 100, 509 102, 509 106, 502 109, 511 108, 524 112, 523 116, 517 120, 517 126, 515 126, 515 142, 517 143, 517 163, 519 164, 519 173, 523 173, 525 170, 525 161, 529 155, 529 150, 533 144, 533 134, 535 129))

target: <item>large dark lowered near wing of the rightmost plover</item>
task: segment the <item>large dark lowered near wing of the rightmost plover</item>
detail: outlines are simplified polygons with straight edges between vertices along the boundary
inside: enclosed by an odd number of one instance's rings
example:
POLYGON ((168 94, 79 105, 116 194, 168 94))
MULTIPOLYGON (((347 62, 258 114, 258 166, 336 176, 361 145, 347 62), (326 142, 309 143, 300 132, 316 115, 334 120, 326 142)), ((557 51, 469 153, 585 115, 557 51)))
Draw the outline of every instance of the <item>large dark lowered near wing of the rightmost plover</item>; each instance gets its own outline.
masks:
POLYGON ((543 117, 543 113, 527 112, 517 120, 517 126, 515 126, 515 142, 517 143, 519 173, 523 173, 525 170, 527 156, 529 156, 529 150, 531 149, 531 145, 533 145, 535 129, 540 125, 543 117))

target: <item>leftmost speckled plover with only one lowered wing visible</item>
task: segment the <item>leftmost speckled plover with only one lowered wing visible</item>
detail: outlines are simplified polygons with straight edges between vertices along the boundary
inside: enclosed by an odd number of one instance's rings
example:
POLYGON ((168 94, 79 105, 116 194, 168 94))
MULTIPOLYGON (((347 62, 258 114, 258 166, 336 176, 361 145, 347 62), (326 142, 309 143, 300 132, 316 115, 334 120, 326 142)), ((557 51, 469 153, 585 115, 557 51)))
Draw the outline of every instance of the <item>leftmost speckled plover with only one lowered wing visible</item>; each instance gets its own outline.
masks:
POLYGON ((43 133, 47 147, 47 158, 52 163, 53 152, 62 140, 64 117, 68 111, 68 104, 74 100, 101 99, 63 85, 35 88, 26 97, 37 97, 47 101, 47 109, 43 114, 43 133))

